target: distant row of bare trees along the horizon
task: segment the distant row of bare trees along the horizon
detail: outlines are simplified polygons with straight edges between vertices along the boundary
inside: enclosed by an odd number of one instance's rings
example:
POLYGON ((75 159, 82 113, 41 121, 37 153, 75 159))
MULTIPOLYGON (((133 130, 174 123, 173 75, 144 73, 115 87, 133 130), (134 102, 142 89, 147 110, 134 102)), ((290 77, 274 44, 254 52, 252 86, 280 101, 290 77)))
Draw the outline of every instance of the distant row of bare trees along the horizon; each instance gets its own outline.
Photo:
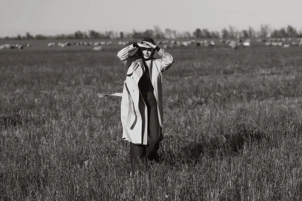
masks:
POLYGON ((272 29, 269 24, 262 24, 259 30, 255 30, 251 26, 248 29, 238 30, 234 26, 223 28, 219 31, 210 31, 207 28, 196 28, 193 33, 188 31, 179 32, 172 29, 164 31, 159 26, 154 26, 154 29, 145 31, 133 30, 132 33, 105 31, 98 32, 95 30, 75 31, 70 34, 50 35, 32 35, 26 32, 25 35, 18 34, 17 36, 5 37, 6 40, 46 40, 46 39, 141 39, 142 37, 153 37, 157 39, 176 39, 176 38, 294 38, 302 37, 302 30, 297 31, 296 28, 288 25, 280 29, 272 29))

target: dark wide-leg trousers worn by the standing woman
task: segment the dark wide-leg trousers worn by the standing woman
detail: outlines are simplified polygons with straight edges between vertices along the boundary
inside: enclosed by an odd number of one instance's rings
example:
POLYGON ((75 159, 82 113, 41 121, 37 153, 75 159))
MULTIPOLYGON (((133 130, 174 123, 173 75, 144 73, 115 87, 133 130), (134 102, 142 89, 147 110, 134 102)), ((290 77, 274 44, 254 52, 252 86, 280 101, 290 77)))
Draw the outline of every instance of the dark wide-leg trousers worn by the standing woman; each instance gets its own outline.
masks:
POLYGON ((163 140, 162 128, 158 117, 157 102, 153 91, 142 93, 142 98, 147 106, 147 145, 133 144, 130 142, 130 157, 133 162, 147 157, 149 160, 158 160, 160 142, 163 140))

